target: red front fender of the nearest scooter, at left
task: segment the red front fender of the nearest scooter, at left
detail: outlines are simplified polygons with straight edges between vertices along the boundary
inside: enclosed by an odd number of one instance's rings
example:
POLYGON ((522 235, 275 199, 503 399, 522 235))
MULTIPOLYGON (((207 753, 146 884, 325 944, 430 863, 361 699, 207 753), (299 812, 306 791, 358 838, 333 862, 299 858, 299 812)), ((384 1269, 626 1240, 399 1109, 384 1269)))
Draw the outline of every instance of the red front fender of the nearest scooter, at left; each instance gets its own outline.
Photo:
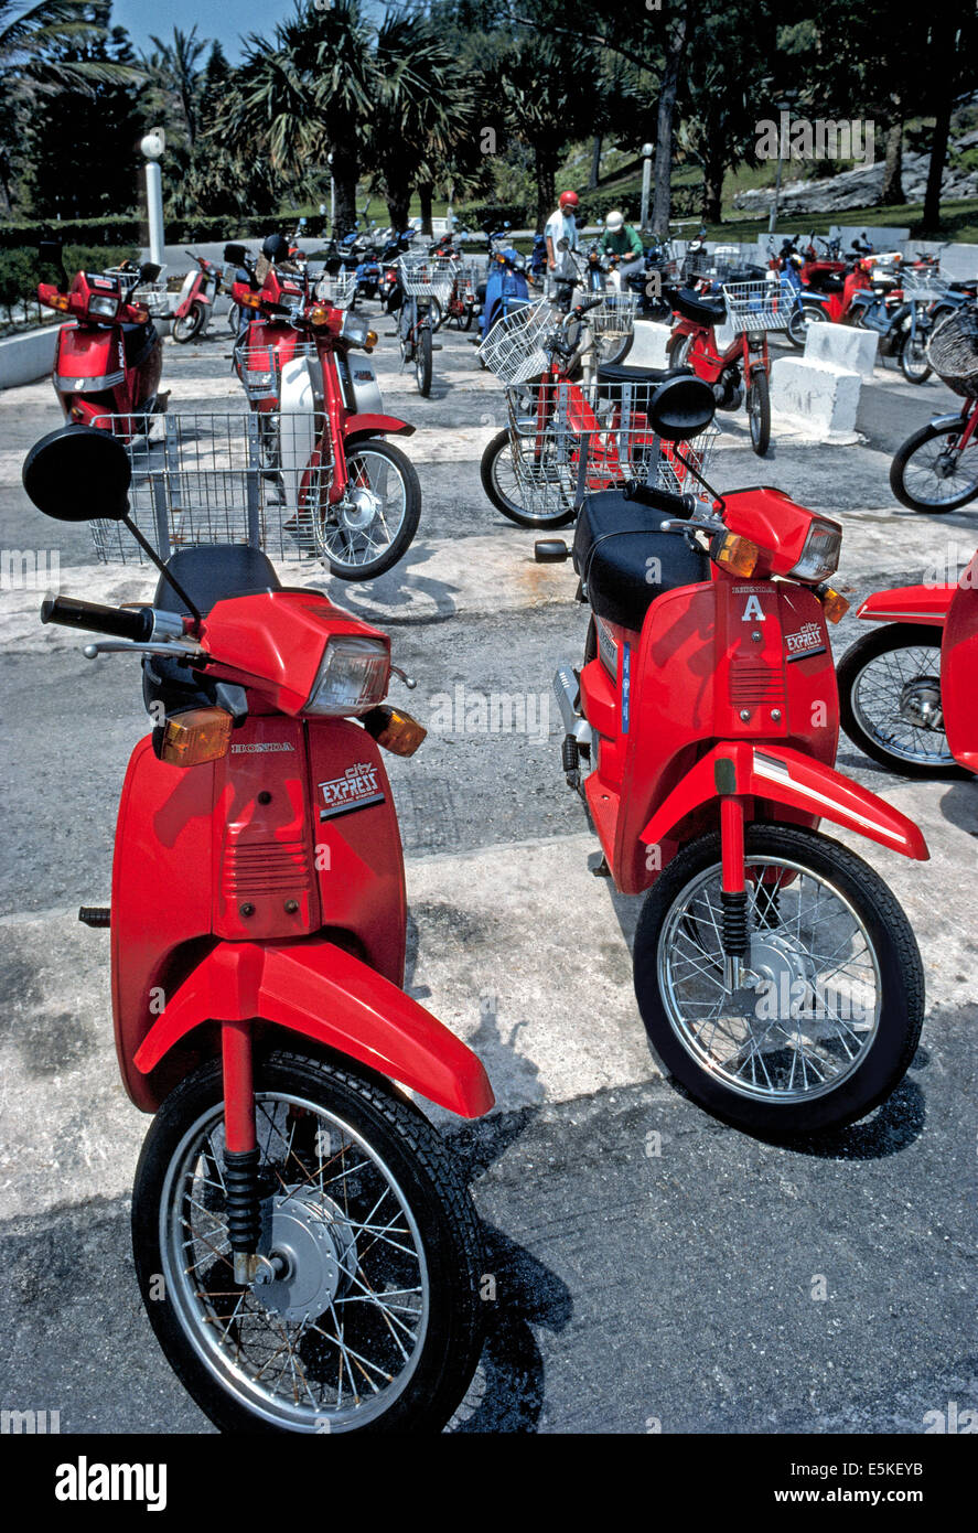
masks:
POLYGON ((314 1038, 461 1118, 494 1104, 480 1059, 431 1012, 327 941, 222 943, 167 998, 136 1056, 149 1075, 201 1023, 258 1018, 314 1038))

